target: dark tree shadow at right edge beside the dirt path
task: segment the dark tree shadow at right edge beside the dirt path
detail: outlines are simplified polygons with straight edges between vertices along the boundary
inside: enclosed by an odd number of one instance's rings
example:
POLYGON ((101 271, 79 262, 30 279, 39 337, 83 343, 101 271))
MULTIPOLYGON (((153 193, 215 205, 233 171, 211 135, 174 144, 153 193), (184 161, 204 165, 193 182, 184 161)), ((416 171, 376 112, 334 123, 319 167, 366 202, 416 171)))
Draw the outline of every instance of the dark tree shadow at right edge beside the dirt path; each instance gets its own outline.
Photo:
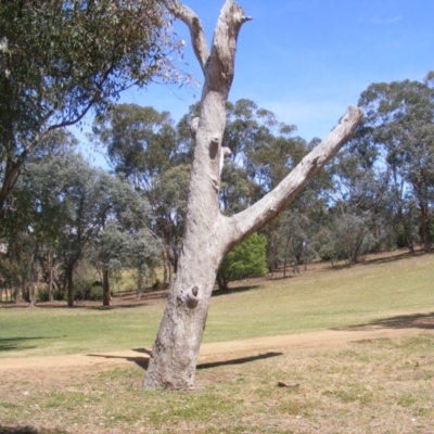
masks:
POLYGON ((390 318, 380 318, 365 324, 333 328, 332 330, 372 330, 372 329, 422 329, 434 330, 434 312, 398 315, 390 318))

